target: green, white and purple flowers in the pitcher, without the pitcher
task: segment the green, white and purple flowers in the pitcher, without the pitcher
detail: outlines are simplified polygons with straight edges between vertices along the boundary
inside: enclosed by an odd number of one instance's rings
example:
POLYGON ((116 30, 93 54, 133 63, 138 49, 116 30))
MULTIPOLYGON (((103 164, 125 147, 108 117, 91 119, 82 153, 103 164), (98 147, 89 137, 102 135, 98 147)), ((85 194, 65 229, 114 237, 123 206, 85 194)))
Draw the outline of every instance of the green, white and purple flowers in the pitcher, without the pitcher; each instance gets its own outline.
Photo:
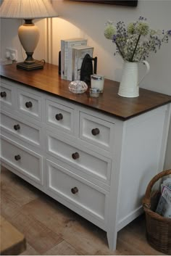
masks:
POLYGON ((149 57, 149 52, 157 52, 162 43, 167 43, 171 30, 154 30, 149 28, 146 18, 139 17, 138 21, 130 22, 126 27, 125 22, 108 21, 104 36, 116 44, 116 53, 119 53, 128 62, 140 62, 149 57))

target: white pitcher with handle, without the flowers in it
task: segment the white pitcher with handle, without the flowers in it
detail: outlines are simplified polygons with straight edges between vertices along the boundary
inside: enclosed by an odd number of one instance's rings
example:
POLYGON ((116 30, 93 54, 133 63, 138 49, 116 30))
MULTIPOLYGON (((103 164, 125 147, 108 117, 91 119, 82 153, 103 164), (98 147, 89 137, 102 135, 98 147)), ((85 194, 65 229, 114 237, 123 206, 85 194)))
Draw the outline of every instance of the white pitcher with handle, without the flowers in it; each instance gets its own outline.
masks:
POLYGON ((146 60, 141 61, 146 65, 146 73, 143 78, 138 82, 138 63, 125 61, 122 70, 122 78, 120 82, 120 88, 118 94, 127 98, 134 98, 139 96, 139 83, 149 73, 149 62, 146 60))

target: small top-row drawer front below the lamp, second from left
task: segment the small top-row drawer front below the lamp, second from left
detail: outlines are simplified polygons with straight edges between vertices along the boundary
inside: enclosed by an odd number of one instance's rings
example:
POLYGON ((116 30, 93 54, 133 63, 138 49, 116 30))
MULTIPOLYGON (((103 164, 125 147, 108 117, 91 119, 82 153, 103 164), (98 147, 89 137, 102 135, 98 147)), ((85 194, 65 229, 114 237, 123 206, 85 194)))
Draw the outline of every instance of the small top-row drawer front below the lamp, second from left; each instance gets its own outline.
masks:
POLYGON ((18 90, 18 110, 25 115, 41 120, 41 97, 18 90))

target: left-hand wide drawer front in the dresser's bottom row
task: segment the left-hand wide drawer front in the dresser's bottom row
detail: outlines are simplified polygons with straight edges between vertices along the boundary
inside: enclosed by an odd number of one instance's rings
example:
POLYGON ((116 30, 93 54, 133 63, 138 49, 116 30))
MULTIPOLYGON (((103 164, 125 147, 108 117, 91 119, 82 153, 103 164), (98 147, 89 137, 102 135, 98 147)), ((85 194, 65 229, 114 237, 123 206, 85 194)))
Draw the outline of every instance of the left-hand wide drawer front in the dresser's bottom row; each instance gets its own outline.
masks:
POLYGON ((43 184, 42 157, 5 136, 1 136, 1 160, 33 181, 43 184))

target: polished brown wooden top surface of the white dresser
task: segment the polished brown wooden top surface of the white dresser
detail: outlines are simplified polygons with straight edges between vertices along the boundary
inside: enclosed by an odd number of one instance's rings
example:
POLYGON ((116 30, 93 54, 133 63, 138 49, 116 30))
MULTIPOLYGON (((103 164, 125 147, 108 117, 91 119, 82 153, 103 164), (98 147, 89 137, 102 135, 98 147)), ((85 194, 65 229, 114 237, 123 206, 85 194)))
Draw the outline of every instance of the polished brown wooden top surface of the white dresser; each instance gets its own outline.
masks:
POLYGON ((112 115, 120 120, 128 120, 143 112, 153 110, 171 102, 171 96, 159 94, 140 88, 140 96, 125 98, 117 95, 119 83, 105 79, 104 93, 99 98, 89 96, 89 90, 84 94, 72 94, 68 86, 70 81, 62 80, 58 75, 58 67, 46 63, 43 70, 19 70, 16 64, 1 66, 0 75, 3 78, 31 86, 54 96, 78 103, 93 110, 112 115))

